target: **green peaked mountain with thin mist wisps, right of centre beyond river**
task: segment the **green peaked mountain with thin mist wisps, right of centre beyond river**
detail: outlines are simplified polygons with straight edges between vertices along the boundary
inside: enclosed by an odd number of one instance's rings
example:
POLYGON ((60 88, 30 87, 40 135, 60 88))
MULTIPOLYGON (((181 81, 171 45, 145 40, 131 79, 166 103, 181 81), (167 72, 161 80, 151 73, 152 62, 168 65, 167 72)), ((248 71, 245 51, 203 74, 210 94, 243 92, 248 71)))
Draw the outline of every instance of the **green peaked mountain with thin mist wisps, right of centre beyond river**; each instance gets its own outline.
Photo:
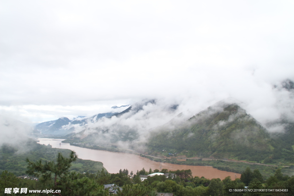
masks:
POLYGON ((260 161, 273 148, 269 134, 237 104, 217 103, 187 122, 153 131, 149 152, 170 151, 188 157, 235 158, 260 161))

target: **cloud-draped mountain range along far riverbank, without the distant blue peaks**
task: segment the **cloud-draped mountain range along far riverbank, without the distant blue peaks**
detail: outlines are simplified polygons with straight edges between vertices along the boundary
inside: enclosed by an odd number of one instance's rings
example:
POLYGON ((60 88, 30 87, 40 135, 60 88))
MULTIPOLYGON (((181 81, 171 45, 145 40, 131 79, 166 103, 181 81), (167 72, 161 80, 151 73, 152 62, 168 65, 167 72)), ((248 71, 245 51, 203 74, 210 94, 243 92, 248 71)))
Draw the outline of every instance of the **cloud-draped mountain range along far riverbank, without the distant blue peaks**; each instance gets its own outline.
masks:
POLYGON ((260 161, 272 157, 273 150, 291 150, 294 145, 290 120, 294 112, 291 107, 285 108, 287 103, 293 104, 289 86, 291 81, 287 80, 273 88, 279 98, 274 115, 279 117, 265 123, 248 114, 242 107, 244 103, 233 98, 219 101, 196 115, 179 110, 183 109, 181 104, 151 99, 88 124, 65 142, 117 146, 153 155, 168 150, 188 157, 260 161))

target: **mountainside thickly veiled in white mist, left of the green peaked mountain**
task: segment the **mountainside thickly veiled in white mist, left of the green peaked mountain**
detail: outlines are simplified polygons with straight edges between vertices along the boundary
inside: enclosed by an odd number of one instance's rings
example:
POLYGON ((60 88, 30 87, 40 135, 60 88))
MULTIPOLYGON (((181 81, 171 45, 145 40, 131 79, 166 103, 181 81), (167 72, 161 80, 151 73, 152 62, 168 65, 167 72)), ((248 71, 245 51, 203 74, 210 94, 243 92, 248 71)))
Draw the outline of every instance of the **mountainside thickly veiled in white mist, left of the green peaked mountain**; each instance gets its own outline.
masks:
POLYGON ((67 142, 88 141, 98 145, 119 145, 131 148, 146 141, 151 128, 168 122, 178 114, 174 104, 168 105, 162 100, 142 100, 111 118, 103 118, 89 123, 79 133, 71 135, 67 142))

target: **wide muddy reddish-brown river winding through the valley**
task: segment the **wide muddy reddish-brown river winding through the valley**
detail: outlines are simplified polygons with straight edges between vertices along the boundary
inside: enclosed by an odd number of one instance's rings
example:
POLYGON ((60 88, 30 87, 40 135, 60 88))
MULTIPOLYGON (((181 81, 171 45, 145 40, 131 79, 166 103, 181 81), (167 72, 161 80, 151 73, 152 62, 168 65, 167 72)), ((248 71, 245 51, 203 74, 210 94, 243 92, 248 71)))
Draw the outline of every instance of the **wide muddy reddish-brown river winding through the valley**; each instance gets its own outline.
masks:
POLYGON ((109 173, 118 173, 120 169, 128 169, 129 172, 134 173, 137 170, 141 170, 143 167, 146 171, 149 168, 152 170, 168 169, 168 170, 188 170, 190 169, 193 176, 204 176, 205 178, 220 178, 223 180, 225 177, 230 176, 232 180, 240 178, 241 174, 221 171, 211 166, 194 166, 194 165, 176 165, 171 163, 159 163, 151 161, 147 158, 143 158, 139 155, 128 153, 117 153, 106 150, 93 150, 88 148, 81 148, 78 146, 71 146, 69 143, 61 143, 64 139, 51 139, 51 138, 39 138, 40 144, 52 145, 52 148, 64 148, 74 150, 78 155, 78 158, 84 160, 100 161, 109 173), (61 144, 60 144, 61 143, 61 144))

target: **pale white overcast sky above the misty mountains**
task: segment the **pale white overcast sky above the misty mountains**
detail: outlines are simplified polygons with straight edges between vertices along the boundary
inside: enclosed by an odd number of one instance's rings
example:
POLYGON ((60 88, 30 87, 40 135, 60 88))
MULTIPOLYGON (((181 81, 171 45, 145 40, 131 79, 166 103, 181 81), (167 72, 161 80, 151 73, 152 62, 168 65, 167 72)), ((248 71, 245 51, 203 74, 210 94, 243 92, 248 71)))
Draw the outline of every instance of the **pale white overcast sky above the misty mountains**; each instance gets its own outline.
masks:
POLYGON ((198 113, 232 97, 276 119, 293 106, 273 89, 294 80, 293 10, 268 0, 1 1, 0 114, 40 123, 143 99, 198 113))

